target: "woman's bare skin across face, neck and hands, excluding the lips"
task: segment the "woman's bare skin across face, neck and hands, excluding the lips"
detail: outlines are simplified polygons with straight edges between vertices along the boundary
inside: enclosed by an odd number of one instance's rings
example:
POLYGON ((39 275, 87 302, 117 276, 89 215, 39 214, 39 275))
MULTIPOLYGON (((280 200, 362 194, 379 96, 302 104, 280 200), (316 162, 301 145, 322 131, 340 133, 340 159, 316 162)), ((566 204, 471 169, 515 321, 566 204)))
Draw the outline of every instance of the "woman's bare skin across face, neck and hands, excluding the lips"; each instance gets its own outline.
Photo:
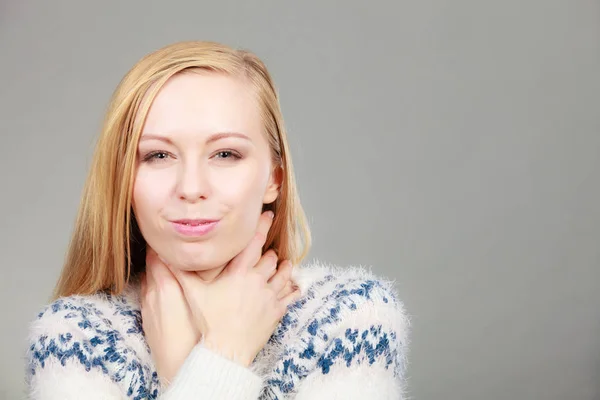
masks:
POLYGON ((239 78, 176 75, 143 128, 133 193, 148 244, 142 323, 166 385, 200 339, 249 366, 299 297, 291 264, 261 254, 273 218, 261 209, 280 179, 253 96, 239 78), (185 218, 219 222, 190 237, 171 222, 185 218))

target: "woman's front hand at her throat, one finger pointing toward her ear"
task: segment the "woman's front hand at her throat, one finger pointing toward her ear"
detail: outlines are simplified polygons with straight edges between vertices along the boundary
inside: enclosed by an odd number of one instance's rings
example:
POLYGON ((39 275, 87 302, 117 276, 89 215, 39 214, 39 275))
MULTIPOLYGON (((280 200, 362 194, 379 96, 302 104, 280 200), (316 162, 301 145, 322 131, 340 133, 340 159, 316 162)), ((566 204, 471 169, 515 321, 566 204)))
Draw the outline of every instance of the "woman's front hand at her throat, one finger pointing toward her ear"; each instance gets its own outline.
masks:
POLYGON ((171 269, 204 346, 244 366, 252 364, 300 296, 291 283, 291 263, 282 261, 277 268, 273 250, 261 256, 272 222, 272 212, 263 213, 250 244, 211 282, 171 269))

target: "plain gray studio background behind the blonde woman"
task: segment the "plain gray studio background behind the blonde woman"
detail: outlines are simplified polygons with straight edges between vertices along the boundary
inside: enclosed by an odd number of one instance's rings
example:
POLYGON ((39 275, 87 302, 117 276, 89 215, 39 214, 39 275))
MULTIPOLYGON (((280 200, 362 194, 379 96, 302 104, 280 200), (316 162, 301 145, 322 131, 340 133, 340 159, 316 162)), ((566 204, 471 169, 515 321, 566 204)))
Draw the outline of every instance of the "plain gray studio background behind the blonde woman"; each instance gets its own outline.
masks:
POLYGON ((112 90, 183 39, 270 67, 311 258, 397 279, 414 399, 600 399, 591 0, 4 0, 1 398, 22 396, 112 90))

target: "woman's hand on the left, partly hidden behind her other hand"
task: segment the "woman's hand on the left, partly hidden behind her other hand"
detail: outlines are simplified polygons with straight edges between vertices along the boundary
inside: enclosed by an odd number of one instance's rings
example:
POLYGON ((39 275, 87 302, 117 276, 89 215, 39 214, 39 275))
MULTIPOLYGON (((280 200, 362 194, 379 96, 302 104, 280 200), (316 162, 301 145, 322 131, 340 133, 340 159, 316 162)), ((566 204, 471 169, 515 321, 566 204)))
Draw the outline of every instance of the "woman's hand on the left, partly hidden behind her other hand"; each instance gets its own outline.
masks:
POLYGON ((168 385, 200 340, 179 282, 148 248, 141 287, 142 327, 159 379, 168 385))

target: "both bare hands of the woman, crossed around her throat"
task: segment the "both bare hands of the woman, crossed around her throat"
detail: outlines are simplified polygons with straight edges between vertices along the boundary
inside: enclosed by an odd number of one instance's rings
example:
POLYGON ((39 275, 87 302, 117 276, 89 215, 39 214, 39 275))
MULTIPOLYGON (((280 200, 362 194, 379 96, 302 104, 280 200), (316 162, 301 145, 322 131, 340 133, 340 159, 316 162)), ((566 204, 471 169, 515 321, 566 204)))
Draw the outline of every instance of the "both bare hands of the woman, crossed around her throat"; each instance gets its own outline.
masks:
POLYGON ((141 290, 142 324, 164 385, 201 338, 205 348, 250 366, 287 307, 300 297, 291 285, 291 264, 282 262, 276 269, 272 251, 261 257, 271 221, 261 216, 254 239, 211 282, 170 268, 149 253, 141 290))

